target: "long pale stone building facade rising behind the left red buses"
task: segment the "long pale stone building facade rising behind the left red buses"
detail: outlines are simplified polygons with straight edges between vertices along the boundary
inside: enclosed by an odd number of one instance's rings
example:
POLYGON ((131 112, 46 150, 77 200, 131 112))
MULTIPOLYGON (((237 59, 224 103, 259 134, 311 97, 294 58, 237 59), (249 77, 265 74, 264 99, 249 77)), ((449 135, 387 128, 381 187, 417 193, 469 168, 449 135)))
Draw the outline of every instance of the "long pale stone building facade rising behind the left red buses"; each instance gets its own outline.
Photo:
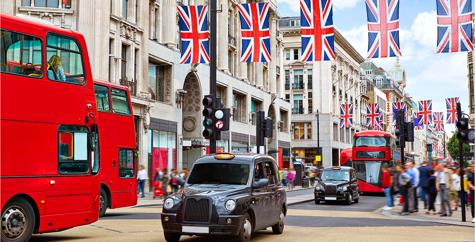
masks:
MULTIPOLYGON (((270 5, 269 63, 239 62, 237 3, 251 1, 217 1, 223 10, 217 15, 217 96, 224 107, 232 108, 233 120, 217 146, 221 151, 250 151, 255 146, 253 112, 263 110, 274 120, 273 138, 267 139, 265 148, 269 153, 279 151, 273 156, 280 166, 289 166, 291 106, 281 98, 280 16, 275 0, 264 1, 270 5)), ((189 168, 209 150, 201 134, 201 100, 209 93, 209 65, 179 64, 176 10, 178 5, 204 4, 209 1, 5 0, 0 6, 2 12, 42 18, 84 35, 93 78, 130 88, 140 152, 137 165, 144 165, 151 179, 155 168, 189 168)))

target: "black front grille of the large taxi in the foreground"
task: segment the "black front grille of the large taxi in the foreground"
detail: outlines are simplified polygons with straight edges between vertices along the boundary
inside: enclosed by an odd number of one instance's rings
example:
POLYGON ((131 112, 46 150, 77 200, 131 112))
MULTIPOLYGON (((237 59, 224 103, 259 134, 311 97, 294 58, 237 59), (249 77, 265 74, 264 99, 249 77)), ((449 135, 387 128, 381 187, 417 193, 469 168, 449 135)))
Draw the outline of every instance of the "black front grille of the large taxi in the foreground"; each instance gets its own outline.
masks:
POLYGON ((209 223, 211 201, 207 198, 186 198, 183 222, 209 223))

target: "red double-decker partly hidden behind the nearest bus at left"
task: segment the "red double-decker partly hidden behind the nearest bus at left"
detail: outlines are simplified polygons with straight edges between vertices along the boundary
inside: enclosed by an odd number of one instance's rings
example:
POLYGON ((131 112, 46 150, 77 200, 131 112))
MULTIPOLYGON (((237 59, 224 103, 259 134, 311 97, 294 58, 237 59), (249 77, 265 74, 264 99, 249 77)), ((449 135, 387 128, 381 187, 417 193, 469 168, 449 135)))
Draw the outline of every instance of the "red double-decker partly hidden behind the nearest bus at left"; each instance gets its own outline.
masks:
POLYGON ((137 204, 135 129, 127 87, 94 80, 100 147, 99 217, 137 204))

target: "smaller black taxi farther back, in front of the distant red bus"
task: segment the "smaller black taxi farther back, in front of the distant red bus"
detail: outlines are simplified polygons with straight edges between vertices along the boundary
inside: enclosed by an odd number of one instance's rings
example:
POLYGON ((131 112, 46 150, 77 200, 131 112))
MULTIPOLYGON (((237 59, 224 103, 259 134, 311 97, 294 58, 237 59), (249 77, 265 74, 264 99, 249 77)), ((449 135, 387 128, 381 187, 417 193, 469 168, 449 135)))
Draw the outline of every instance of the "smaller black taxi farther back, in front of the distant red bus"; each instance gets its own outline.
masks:
POLYGON ((339 201, 346 205, 359 202, 359 184, 352 167, 333 166, 324 168, 316 179, 313 191, 315 204, 320 201, 339 201))

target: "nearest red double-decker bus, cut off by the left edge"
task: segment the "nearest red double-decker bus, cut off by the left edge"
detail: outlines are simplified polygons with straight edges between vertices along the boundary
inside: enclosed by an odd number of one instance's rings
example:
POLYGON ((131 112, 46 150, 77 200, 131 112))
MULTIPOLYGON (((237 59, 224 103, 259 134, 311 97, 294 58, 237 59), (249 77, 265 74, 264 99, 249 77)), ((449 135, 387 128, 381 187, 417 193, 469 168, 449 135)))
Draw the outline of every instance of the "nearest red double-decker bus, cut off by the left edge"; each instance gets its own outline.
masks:
POLYGON ((100 128, 84 37, 0 18, 1 241, 95 222, 100 128))

